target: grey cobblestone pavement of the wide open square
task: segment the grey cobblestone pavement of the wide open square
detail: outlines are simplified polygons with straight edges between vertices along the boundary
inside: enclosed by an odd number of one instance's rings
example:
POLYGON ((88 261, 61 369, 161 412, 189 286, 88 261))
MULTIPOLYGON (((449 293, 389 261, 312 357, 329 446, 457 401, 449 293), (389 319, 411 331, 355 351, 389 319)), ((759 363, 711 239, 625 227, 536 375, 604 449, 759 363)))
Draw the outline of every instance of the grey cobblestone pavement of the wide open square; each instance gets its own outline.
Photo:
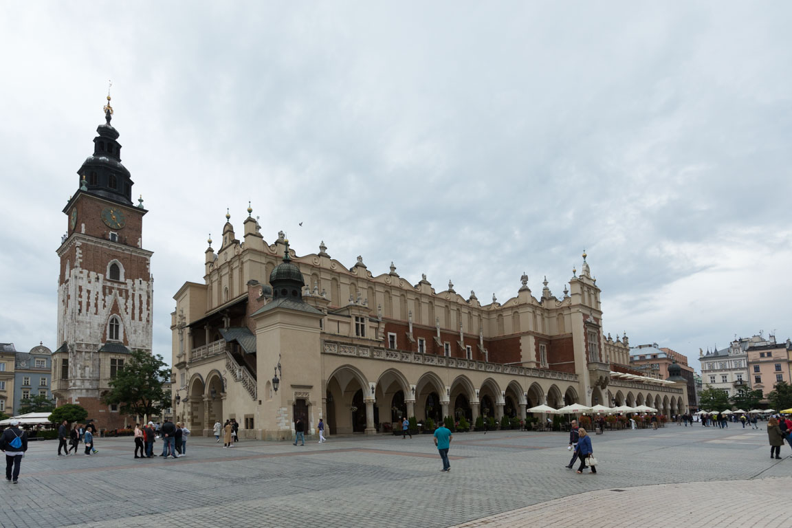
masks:
MULTIPOLYGON (((82 447, 77 456, 57 457, 55 441, 31 442, 20 484, 2 481, 0 526, 444 528, 527 526, 538 519, 568 526, 581 515, 587 528, 636 526, 636 519, 687 528, 781 522, 775 512, 785 506, 776 499, 781 490, 789 496, 792 451, 784 446, 785 458, 771 460, 766 431, 672 424, 593 435, 596 475, 564 468, 567 439, 565 433, 456 434, 450 473, 440 473, 429 435, 333 436, 305 446, 243 441, 232 449, 192 437, 188 455, 176 460, 135 460, 131 439, 97 439, 93 457, 83 456, 82 447), (646 517, 650 511, 653 517, 646 517)), ((161 449, 157 443, 154 451, 161 449)), ((790 517, 783 519, 788 524, 790 517)))

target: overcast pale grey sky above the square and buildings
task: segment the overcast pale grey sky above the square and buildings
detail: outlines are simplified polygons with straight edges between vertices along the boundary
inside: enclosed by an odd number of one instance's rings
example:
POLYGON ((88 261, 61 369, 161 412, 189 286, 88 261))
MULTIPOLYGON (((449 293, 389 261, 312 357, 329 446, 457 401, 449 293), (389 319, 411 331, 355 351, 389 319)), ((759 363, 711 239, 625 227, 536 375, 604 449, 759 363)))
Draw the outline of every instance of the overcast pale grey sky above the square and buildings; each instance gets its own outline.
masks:
POLYGON ((62 209, 112 124, 154 352, 248 202, 437 291, 562 295, 688 356, 792 336, 789 2, 0 2, 0 341, 55 350, 62 209), (303 222, 302 226, 299 223, 303 222))

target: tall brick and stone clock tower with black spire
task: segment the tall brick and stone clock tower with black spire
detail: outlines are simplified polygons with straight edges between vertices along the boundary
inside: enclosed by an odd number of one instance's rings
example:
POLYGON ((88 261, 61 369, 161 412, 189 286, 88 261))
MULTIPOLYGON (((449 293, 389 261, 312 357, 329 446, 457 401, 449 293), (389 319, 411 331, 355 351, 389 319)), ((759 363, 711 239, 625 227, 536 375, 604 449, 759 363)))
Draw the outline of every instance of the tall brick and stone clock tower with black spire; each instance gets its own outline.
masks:
POLYGON ((152 253, 143 249, 143 199, 121 165, 118 131, 105 121, 93 154, 78 170, 78 191, 63 209, 67 234, 58 248, 59 348, 52 355, 52 393, 58 405, 88 409, 97 427, 124 426, 125 416, 101 402, 109 381, 133 349, 151 351, 152 253))

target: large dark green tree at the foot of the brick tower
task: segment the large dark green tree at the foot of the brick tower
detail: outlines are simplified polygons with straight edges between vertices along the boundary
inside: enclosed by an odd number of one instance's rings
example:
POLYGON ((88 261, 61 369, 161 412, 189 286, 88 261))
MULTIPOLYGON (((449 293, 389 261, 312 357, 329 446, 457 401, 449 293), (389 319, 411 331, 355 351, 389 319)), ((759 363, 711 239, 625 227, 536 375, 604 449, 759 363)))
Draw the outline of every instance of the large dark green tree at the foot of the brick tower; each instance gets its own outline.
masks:
POLYGON ((170 393, 162 383, 170 376, 170 369, 162 355, 133 350, 124 368, 116 371, 109 382, 110 390, 102 397, 107 405, 118 405, 120 412, 129 415, 156 415, 170 405, 170 393))

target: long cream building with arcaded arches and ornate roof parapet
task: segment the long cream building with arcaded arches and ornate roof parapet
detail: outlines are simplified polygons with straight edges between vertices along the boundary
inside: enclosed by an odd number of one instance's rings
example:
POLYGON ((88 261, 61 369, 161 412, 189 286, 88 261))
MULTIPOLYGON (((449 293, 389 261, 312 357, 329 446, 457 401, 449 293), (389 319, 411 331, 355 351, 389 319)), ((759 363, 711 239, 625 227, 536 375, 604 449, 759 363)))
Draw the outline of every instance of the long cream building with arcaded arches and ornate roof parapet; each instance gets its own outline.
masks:
POLYGON ((482 304, 393 264, 348 268, 324 242, 297 256, 251 212, 240 238, 227 215, 203 282, 174 295, 173 412, 193 434, 228 418, 242 437, 288 439, 296 418, 311 433, 321 418, 331 434, 373 434, 401 416, 525 417, 539 404, 687 411, 684 382, 643 376, 627 337, 604 333, 585 253, 560 298, 523 275, 512 298, 482 304))

